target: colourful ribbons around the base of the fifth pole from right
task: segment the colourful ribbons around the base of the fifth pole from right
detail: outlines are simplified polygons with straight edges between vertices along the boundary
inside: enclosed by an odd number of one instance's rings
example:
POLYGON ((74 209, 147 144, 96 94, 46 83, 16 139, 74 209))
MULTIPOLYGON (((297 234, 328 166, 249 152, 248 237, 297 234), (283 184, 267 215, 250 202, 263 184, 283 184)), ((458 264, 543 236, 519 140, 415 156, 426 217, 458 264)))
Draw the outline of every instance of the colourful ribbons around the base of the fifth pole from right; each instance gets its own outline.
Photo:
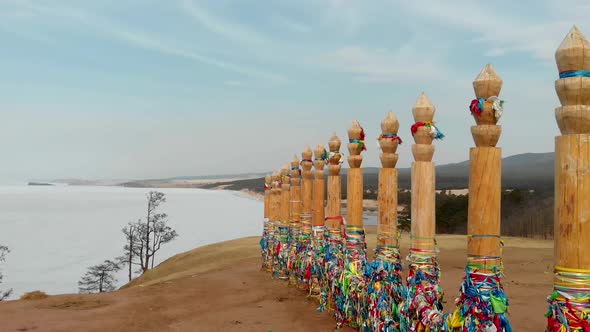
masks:
POLYGON ((340 292, 336 297, 336 327, 343 324, 363 329, 367 315, 367 246, 362 227, 346 225, 344 268, 337 281, 340 292))

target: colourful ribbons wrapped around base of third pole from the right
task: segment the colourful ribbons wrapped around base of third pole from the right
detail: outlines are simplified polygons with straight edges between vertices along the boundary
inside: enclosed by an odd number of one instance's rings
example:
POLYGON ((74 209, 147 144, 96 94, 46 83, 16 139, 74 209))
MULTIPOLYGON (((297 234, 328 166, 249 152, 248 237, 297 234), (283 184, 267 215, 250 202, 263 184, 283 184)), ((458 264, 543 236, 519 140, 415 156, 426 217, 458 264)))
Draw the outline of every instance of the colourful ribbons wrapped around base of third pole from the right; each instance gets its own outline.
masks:
POLYGON ((433 250, 410 249, 407 293, 401 305, 402 331, 444 331, 437 254, 436 247, 433 250))

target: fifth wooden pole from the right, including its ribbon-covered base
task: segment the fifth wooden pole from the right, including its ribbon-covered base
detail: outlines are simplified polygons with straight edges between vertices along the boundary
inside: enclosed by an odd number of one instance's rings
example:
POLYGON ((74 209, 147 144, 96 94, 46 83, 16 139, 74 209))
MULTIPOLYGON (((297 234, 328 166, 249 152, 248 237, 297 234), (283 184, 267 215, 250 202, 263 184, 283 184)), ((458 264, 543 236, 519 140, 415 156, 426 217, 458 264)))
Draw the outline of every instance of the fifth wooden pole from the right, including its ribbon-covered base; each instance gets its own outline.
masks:
POLYGON ((348 177, 346 190, 346 247, 341 283, 342 299, 337 299, 335 311, 337 327, 346 323, 352 327, 366 327, 367 288, 364 273, 367 264, 365 231, 363 228, 363 170, 361 152, 366 150, 365 132, 358 121, 348 130, 348 177))

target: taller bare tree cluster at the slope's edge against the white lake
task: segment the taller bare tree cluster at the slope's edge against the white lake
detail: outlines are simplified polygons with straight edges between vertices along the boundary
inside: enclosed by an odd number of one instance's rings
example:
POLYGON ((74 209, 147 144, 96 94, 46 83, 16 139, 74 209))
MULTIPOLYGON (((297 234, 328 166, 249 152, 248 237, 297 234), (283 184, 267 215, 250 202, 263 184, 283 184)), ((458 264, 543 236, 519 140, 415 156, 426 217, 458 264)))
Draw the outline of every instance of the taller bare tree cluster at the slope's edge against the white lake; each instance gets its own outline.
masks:
POLYGON ((133 266, 138 266, 140 273, 154 267, 156 253, 163 244, 174 240, 178 233, 167 225, 168 215, 157 213, 160 204, 166 202, 165 194, 150 191, 147 195, 147 215, 145 221, 139 219, 123 228, 125 246, 119 261, 128 266, 129 280, 132 279, 133 266))

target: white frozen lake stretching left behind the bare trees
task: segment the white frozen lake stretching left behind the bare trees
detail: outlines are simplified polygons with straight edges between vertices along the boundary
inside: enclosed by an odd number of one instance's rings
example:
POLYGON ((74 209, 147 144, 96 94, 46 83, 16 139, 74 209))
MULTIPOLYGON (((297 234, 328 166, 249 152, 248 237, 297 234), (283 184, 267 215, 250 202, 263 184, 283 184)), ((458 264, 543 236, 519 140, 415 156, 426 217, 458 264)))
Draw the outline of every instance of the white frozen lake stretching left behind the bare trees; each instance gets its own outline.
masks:
MULTIPOLYGON (((0 186, 0 244, 11 252, 0 266, 12 298, 42 290, 77 293, 86 268, 121 255, 121 229, 143 218, 151 188, 0 186)), ((160 212, 179 236, 162 247, 156 264, 199 246, 262 231, 262 202, 245 194, 202 189, 166 193, 160 212)), ((127 281, 118 274, 119 285, 127 281)))

